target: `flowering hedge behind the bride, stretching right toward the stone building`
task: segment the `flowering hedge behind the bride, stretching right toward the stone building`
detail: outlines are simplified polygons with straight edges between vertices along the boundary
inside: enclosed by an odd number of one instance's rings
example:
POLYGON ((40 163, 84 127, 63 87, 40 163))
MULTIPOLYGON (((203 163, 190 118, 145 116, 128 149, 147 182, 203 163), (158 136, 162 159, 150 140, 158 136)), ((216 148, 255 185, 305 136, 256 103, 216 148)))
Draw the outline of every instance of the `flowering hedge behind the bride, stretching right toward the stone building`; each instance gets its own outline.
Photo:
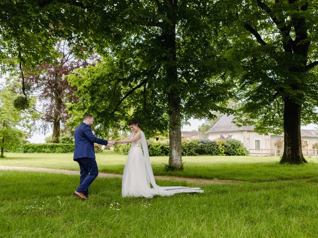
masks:
MULTIPOLYGON (((183 156, 198 156, 198 155, 248 155, 248 151, 244 145, 236 139, 223 140, 187 140, 182 144, 183 156)), ((118 154, 127 155, 130 149, 130 144, 115 145, 114 151, 118 154)), ((168 156, 169 144, 153 142, 148 145, 150 156, 168 156)))

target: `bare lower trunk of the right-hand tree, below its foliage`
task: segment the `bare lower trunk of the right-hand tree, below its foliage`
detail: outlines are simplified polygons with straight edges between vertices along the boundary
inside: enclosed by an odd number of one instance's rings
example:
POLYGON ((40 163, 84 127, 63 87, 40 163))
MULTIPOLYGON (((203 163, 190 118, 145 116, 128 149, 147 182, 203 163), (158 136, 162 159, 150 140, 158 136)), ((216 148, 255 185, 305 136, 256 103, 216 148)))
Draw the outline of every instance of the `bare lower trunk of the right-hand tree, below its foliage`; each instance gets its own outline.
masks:
POLYGON ((285 99, 284 106, 284 153, 281 164, 307 163, 303 156, 301 139, 302 105, 285 99))

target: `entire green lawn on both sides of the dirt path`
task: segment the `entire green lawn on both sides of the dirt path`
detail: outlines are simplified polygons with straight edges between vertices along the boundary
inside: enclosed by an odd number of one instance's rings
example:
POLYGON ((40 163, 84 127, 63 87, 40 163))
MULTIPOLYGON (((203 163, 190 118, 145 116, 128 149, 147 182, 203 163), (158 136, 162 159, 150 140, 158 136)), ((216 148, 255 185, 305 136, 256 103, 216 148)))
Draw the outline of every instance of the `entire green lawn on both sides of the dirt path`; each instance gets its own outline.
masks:
MULTIPOLYGON (((6 153, 0 165, 79 171, 73 154, 6 153)), ((96 154, 100 172, 122 173, 126 156, 96 154)), ((79 176, 0 171, 1 238, 316 238, 318 161, 280 165, 278 157, 183 157, 184 171, 156 175, 239 179, 203 185, 204 193, 122 198, 121 179, 98 178, 90 198, 72 192, 79 176)), ((194 184, 157 181, 159 185, 194 184)))

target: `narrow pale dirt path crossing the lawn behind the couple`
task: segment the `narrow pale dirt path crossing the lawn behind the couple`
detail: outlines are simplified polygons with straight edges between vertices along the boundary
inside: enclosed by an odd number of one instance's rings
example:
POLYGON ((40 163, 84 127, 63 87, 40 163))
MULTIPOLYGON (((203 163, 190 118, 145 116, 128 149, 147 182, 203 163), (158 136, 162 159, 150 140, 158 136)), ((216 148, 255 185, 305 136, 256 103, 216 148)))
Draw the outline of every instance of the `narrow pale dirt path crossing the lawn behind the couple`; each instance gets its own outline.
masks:
MULTIPOLYGON (((34 168, 34 167, 0 166, 0 170, 29 171, 29 172, 64 174, 64 175, 79 175, 79 171, 34 168)), ((100 177, 100 178, 122 178, 122 175, 99 173, 98 177, 100 177)), ((212 184, 212 183, 243 182, 240 180, 198 179, 198 178, 185 178, 185 177, 174 177, 174 176, 155 176, 155 178, 158 180, 187 181, 190 183, 203 184, 203 185, 204 184, 212 184)))

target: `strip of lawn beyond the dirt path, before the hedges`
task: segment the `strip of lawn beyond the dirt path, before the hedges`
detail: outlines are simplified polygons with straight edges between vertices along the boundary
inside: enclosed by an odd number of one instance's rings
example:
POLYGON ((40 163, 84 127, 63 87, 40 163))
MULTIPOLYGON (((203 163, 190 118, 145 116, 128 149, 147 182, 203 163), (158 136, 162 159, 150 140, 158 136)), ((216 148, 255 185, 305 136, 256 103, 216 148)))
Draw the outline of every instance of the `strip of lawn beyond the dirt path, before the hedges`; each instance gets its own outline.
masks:
MULTIPOLYGON (((25 166, 53 168, 79 171, 73 161, 73 154, 20 154, 5 153, 6 158, 0 159, 3 166, 25 166)), ((184 156, 184 170, 166 172, 164 164, 168 157, 152 157, 155 175, 170 175, 204 179, 233 179, 243 181, 276 181, 290 179, 310 179, 318 177, 318 159, 307 157, 310 162, 304 165, 280 165, 279 157, 251 156, 184 156)), ((104 151, 96 154, 100 172, 122 174, 126 156, 104 151)))

